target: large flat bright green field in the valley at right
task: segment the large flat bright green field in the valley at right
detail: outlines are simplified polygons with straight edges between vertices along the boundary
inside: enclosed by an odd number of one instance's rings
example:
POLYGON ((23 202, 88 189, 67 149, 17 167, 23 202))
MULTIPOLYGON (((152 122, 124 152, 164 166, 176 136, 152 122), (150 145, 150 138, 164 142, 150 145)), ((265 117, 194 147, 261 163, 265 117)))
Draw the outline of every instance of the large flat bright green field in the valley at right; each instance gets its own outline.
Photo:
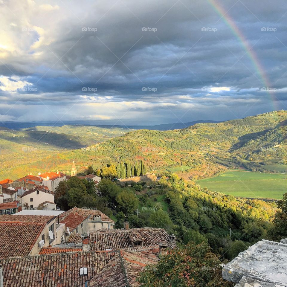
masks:
POLYGON ((282 199, 287 192, 287 174, 228 171, 196 183, 211 191, 238 197, 282 199))

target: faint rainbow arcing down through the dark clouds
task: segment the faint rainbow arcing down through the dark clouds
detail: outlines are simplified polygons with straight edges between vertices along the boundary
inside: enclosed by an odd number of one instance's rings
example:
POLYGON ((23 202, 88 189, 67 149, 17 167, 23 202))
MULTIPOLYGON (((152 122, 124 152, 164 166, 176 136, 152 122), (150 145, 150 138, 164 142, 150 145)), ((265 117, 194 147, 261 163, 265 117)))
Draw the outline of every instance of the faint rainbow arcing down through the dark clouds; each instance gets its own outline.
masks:
POLYGON ((260 77, 259 80, 261 81, 263 86, 265 86, 266 91, 270 95, 270 99, 273 102, 274 107, 275 107, 275 103, 277 103, 277 100, 276 100, 277 98, 276 98, 276 96, 274 94, 274 91, 270 90, 271 85, 270 85, 270 82, 268 80, 268 77, 267 77, 267 75, 265 73, 265 70, 262 67, 259 59, 257 58, 256 53, 253 51, 252 46, 248 43, 248 41, 246 40, 245 36, 240 31, 240 29, 236 25, 236 22, 228 15, 228 13, 227 13, 228 11, 225 11, 223 9, 223 7, 219 3, 217 3, 215 0, 207 0, 207 2, 213 7, 213 9, 216 11, 216 13, 219 14, 219 16, 224 20, 226 25, 228 25, 230 30, 233 32, 233 34, 241 42, 244 50, 246 51, 246 54, 250 58, 251 62, 254 65, 255 70, 257 71, 257 74, 260 77))

